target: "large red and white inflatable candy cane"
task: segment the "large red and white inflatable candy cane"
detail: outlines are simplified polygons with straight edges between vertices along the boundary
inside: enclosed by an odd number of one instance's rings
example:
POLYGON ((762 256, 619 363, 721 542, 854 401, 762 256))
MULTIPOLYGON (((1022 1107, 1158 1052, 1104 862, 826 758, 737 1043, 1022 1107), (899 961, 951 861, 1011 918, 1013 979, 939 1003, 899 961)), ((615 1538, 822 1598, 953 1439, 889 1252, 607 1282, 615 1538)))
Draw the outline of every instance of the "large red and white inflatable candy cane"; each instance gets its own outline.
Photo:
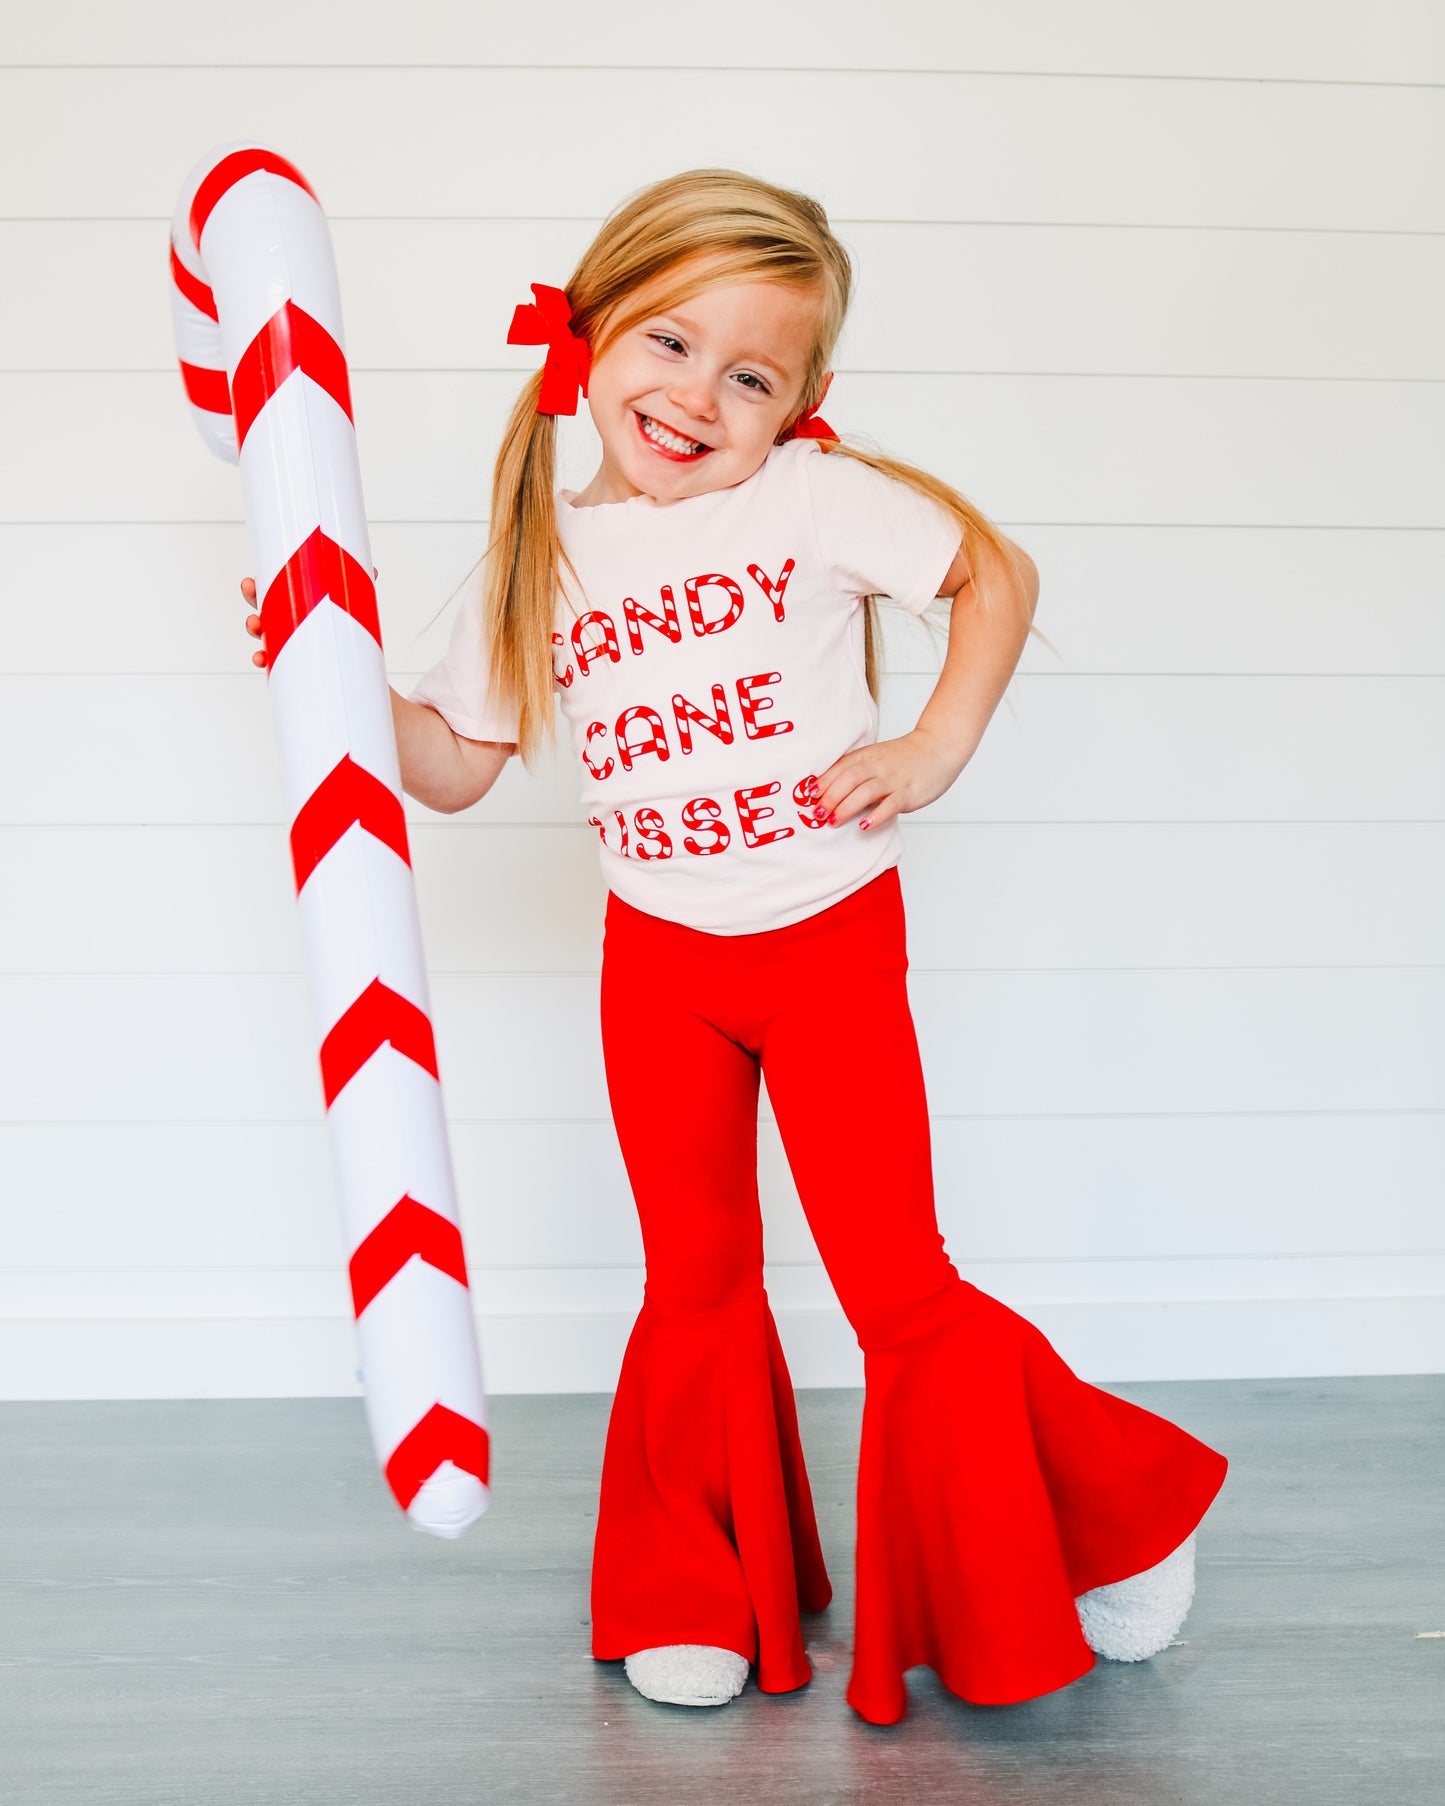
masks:
POLYGON ((486 1510, 486 1400, 325 215, 284 157, 224 144, 170 271, 195 423, 240 464, 367 1420, 403 1512, 459 1537, 486 1510))

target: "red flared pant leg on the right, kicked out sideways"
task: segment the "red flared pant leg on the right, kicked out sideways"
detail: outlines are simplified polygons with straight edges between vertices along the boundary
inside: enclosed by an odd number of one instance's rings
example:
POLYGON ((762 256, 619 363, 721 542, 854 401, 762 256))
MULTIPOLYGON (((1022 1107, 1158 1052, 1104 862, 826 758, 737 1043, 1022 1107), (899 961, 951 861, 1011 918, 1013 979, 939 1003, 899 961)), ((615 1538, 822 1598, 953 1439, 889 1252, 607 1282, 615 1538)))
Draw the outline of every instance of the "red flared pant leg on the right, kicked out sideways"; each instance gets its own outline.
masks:
POLYGON ((816 923, 811 982, 771 977, 762 1071, 863 1349, 847 1698, 894 1723, 905 1671, 928 1663, 965 1699, 1030 1699, 1093 1667, 1077 1595, 1178 1548, 1226 1463, 961 1279, 934 1208, 898 872, 816 923))

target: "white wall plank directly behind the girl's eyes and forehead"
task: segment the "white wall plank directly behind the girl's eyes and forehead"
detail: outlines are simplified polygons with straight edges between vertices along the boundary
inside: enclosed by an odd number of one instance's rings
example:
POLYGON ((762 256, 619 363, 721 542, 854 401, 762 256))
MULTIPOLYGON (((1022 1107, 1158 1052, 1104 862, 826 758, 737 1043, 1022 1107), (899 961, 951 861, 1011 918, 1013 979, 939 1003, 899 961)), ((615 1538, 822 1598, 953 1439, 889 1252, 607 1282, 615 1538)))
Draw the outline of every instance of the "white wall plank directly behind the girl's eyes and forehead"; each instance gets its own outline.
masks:
MULTIPOLYGON (((527 284, 556 284, 592 220, 336 220, 352 370, 515 370, 527 284)), ((1445 240, 1387 233, 1051 224, 838 226, 856 298, 834 367, 1402 381, 1445 377, 1445 240), (946 294, 948 305, 936 305, 946 294), (1067 305, 1060 305, 1067 296, 1067 305), (903 329, 907 321, 907 330, 903 329)), ((4 220, 4 365, 164 370, 154 220, 4 220), (74 296, 107 273, 107 305, 74 296)))

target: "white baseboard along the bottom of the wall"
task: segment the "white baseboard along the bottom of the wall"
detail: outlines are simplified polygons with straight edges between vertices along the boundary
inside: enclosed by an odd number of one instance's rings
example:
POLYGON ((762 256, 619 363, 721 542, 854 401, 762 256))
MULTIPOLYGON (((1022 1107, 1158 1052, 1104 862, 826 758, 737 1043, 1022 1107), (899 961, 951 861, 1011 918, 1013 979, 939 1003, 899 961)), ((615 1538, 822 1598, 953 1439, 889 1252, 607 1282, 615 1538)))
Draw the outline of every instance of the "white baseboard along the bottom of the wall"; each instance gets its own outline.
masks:
MULTIPOLYGON (((1445 1297, 1037 1304, 1087 1380, 1443 1373, 1445 1297)), ((797 1387, 862 1385, 840 1311, 777 1313, 797 1387)), ((607 1392, 632 1318, 620 1311, 479 1318, 488 1391, 607 1392)), ((0 1398, 356 1396, 352 1324, 336 1317, 7 1318, 0 1398)))

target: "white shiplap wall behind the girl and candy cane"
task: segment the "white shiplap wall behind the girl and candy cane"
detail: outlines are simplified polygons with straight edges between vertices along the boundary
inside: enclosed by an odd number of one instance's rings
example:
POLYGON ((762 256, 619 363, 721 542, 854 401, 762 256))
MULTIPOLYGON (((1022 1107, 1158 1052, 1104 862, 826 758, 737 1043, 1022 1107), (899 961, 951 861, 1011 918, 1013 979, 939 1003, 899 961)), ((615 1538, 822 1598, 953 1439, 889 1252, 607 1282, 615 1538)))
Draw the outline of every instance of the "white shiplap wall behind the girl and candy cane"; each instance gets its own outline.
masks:
MULTIPOLYGON (((685 164, 825 202, 829 415, 1033 553, 1057 647, 905 825, 954 1257, 1093 1378, 1445 1365, 1438 5, 4 11, 0 1396, 354 1391, 240 491, 166 311, 237 135, 332 220, 403 690, 527 282, 685 164)), ((900 731, 934 654, 894 616, 889 659, 900 731)), ((497 1391, 609 1387, 641 1293, 574 813, 564 768, 408 805, 497 1391)), ((762 1159, 795 1378, 853 1383, 762 1159)))

